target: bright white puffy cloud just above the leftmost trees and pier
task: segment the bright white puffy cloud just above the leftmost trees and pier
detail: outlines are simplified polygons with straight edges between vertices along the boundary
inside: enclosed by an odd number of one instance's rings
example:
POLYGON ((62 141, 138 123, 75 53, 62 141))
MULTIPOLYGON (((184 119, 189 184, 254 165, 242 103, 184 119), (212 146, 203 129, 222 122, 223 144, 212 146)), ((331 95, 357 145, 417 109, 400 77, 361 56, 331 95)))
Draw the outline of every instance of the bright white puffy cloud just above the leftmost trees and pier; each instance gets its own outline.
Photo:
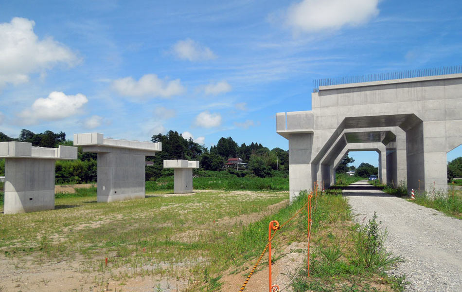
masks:
POLYGON ((80 113, 88 102, 85 95, 66 95, 64 92, 53 91, 47 98, 38 98, 30 109, 21 111, 18 116, 25 124, 36 124, 38 120, 61 120, 80 113))

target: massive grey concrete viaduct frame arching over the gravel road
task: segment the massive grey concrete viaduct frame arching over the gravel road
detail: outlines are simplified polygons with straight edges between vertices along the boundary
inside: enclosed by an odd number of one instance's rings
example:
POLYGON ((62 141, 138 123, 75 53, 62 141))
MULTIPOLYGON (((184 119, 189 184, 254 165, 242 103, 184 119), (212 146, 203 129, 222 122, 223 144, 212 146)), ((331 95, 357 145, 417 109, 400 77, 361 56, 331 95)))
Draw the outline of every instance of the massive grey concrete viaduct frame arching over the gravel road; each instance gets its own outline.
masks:
POLYGON ((385 183, 447 191, 446 153, 462 143, 462 74, 320 86, 311 99, 312 110, 276 114, 291 200, 333 182, 339 160, 362 149, 381 154, 385 183))

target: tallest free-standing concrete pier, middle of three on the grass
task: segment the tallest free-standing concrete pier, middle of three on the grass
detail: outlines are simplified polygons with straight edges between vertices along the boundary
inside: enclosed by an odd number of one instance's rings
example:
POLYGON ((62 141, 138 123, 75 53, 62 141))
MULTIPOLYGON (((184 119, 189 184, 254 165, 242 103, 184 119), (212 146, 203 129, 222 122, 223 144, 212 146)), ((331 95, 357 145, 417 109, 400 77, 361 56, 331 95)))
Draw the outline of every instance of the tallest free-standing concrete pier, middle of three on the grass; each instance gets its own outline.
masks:
POLYGON ((145 197, 145 157, 161 143, 105 139, 100 133, 74 134, 74 145, 98 153, 98 202, 145 197))

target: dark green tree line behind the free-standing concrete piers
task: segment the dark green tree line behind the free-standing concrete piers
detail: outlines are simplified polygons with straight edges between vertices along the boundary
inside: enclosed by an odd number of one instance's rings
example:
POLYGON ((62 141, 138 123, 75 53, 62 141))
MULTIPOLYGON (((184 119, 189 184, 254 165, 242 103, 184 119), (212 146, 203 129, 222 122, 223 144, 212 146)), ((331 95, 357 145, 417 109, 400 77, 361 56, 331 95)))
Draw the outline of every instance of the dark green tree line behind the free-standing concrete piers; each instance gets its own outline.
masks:
MULTIPOLYGON (((73 146, 71 140, 66 140, 64 132, 54 133, 47 130, 34 133, 22 129, 18 138, 13 138, 0 132, 0 142, 19 141, 29 142, 32 146, 57 147, 59 145, 73 146)), ((161 142, 162 151, 155 156, 146 157, 153 165, 146 166, 145 179, 156 180, 163 176, 173 175, 172 169, 164 169, 163 161, 167 159, 198 160, 200 169, 206 171, 228 171, 239 177, 254 175, 271 177, 274 175, 288 175, 288 151, 281 148, 269 149, 260 143, 245 143, 239 146, 231 137, 221 137, 215 146, 207 148, 193 139, 185 139, 177 131, 170 130, 167 134, 151 137, 153 143, 161 142), (231 167, 227 165, 229 158, 240 158, 243 164, 231 167)), ((0 175, 4 174, 4 160, 0 160, 0 175)), ((56 183, 90 183, 97 180, 96 153, 83 152, 78 147, 77 160, 56 161, 56 183)))

